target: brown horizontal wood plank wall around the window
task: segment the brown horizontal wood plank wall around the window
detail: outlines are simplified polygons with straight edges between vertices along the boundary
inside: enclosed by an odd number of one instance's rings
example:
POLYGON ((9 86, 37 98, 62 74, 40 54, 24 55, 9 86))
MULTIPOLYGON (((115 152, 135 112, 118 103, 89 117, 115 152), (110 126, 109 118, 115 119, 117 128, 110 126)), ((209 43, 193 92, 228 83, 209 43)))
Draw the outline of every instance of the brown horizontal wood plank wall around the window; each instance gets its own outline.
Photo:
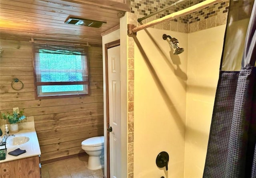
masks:
POLYGON ((82 153, 84 139, 104 134, 101 47, 89 47, 90 96, 35 100, 30 42, 1 39, 0 46, 0 111, 19 107, 34 116, 41 161, 82 153), (13 78, 22 90, 11 88, 13 78))

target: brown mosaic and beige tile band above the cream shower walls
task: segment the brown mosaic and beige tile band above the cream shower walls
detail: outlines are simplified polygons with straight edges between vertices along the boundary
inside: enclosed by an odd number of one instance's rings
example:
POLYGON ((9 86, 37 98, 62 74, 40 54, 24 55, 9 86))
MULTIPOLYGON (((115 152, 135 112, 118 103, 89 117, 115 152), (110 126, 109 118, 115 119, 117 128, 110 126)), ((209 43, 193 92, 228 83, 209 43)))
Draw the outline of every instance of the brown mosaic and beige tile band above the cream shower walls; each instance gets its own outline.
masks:
MULTIPOLYGON (((179 4, 177 6, 174 5, 168 10, 164 10, 155 16, 143 20, 142 23, 164 17, 168 14, 188 8, 203 1, 204 0, 188 0, 184 4, 179 4)), ((162 8, 170 6, 175 2, 176 1, 171 0, 131 0, 131 12, 136 14, 138 18, 141 18, 152 12, 156 12, 162 8)), ((229 0, 223 0, 210 7, 206 7, 186 16, 158 24, 152 28, 191 33, 220 26, 226 24, 228 7, 229 0)))

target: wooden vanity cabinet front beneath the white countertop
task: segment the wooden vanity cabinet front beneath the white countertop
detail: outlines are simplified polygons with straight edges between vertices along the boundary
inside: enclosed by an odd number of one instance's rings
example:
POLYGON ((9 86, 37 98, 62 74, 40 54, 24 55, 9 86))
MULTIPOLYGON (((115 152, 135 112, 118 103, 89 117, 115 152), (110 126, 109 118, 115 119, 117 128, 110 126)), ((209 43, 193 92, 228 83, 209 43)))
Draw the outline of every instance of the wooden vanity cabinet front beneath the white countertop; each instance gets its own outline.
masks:
POLYGON ((40 178, 39 156, 0 163, 0 178, 40 178))

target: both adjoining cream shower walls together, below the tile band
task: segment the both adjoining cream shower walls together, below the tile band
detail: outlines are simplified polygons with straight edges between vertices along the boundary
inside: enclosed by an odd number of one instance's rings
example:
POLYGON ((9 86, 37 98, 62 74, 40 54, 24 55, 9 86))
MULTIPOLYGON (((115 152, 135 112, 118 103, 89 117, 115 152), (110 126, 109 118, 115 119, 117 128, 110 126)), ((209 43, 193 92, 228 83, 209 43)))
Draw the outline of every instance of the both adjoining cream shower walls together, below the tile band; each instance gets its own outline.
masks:
POLYGON ((190 34, 137 32, 134 178, 202 177, 224 32, 225 25, 190 34), (177 38, 185 51, 170 54, 163 34, 177 38), (156 166, 162 151, 170 156, 168 171, 156 166))

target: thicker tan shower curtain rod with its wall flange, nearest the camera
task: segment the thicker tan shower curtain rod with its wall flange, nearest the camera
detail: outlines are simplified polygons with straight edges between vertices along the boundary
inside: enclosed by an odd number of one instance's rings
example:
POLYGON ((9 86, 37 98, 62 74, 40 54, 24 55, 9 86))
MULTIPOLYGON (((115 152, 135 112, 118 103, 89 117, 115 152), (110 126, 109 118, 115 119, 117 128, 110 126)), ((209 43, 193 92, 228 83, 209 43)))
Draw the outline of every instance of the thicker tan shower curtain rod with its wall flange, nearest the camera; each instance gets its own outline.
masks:
POLYGON ((145 28, 148 28, 150 26, 154 26, 156 24, 160 24, 164 21, 167 21, 167 20, 172 20, 174 18, 178 18, 178 17, 182 17, 182 16, 185 16, 187 14, 190 14, 192 12, 195 12, 197 10, 201 10, 203 8, 206 8, 212 4, 216 4, 218 2, 221 2, 221 0, 206 0, 206 1, 203 1, 203 2, 200 2, 194 6, 191 6, 191 7, 188 7, 186 9, 183 9, 183 10, 180 10, 178 12, 174 12, 172 14, 169 14, 167 16, 164 16, 162 18, 159 18, 159 19, 156 19, 156 20, 153 20, 151 22, 148 22, 146 24, 142 24, 140 26, 134 26, 133 24, 128 24, 128 36, 134 36, 136 35, 136 32, 140 31, 140 30, 143 30, 145 28))

